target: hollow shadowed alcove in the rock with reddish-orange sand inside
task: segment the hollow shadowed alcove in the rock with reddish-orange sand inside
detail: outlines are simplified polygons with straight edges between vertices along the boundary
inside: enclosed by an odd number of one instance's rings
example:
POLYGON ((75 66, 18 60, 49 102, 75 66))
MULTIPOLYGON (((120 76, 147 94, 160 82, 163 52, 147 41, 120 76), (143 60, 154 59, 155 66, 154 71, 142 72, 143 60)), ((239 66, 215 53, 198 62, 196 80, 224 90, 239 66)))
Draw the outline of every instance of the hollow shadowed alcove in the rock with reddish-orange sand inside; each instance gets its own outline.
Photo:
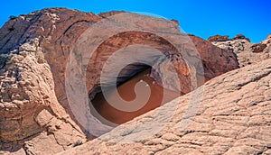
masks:
MULTIPOLYGON (((125 57, 114 60, 111 62, 113 64, 110 67, 110 72, 117 71, 114 67, 116 66, 115 64, 119 63, 119 59, 135 58, 125 57)), ((182 96, 192 90, 190 69, 184 59, 182 59, 181 52, 175 49, 169 41, 150 32, 122 32, 101 43, 89 60, 86 82, 89 89, 89 106, 91 114, 98 118, 101 123, 112 127, 121 123, 126 123, 136 116, 145 114, 146 112, 173 100, 177 96, 182 96), (144 83, 145 87, 149 87, 151 90, 149 99, 142 108, 133 112, 125 112, 108 104, 106 97, 101 92, 101 71, 114 52, 129 46, 135 46, 132 50, 126 50, 126 52, 132 53, 135 52, 135 50, 138 50, 138 47, 136 47, 138 44, 154 48, 157 52, 162 53, 162 55, 157 53, 156 56, 150 56, 145 50, 141 50, 139 51, 140 54, 137 55, 143 56, 139 56, 139 59, 149 59, 148 61, 153 64, 158 62, 158 66, 163 68, 163 70, 175 72, 178 79, 175 79, 172 84, 167 84, 168 86, 175 85, 173 86, 175 89, 165 88, 162 78, 165 78, 165 80, 167 79, 167 71, 165 71, 162 76, 160 75, 160 68, 155 70, 151 65, 144 63, 129 64, 126 67, 121 68, 117 77, 108 76, 109 78, 117 78, 117 90, 110 89, 109 87, 107 88, 107 94, 110 97, 115 97, 114 94, 118 93, 118 95, 127 102, 134 100, 135 97, 140 98, 141 96, 135 95, 135 85, 141 82, 144 83), (164 59, 161 60, 163 57, 164 59), (168 60, 168 62, 166 62, 165 65, 160 65, 160 63, 164 63, 166 60, 168 60), (170 68, 171 65, 173 68, 170 68), (170 71, 170 69, 172 70, 170 71), (178 85, 176 85, 175 82, 179 82, 178 85)))

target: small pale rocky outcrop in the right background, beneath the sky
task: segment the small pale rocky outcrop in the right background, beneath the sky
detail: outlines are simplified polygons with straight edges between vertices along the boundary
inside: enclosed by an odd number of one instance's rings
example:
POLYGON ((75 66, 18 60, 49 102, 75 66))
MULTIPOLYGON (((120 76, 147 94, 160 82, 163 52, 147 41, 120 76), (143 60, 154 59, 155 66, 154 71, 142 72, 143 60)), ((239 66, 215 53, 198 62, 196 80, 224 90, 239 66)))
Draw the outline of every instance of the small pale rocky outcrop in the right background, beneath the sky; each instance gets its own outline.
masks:
POLYGON ((271 58, 270 38, 257 44, 241 38, 229 41, 211 41, 211 43, 221 49, 235 52, 238 55, 240 68, 271 58))

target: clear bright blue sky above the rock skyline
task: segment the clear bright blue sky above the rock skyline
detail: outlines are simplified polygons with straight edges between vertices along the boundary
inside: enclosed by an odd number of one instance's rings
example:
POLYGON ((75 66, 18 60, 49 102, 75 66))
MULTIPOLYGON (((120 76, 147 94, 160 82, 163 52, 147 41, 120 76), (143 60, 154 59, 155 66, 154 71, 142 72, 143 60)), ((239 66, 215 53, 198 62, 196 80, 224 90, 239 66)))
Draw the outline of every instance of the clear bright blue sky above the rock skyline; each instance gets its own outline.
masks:
POLYGON ((2 26, 10 15, 28 14, 46 7, 85 12, 125 10, 158 14, 179 21, 182 30, 207 39, 210 35, 245 34, 253 42, 271 33, 271 0, 3 0, 2 26))

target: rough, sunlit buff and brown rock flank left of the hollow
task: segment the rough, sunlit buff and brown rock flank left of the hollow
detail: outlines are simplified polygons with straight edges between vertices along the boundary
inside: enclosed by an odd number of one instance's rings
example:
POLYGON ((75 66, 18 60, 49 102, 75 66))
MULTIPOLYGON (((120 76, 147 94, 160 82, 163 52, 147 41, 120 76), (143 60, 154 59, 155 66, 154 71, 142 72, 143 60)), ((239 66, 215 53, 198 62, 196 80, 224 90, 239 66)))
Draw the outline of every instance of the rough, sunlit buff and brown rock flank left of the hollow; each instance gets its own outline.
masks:
POLYGON ((0 70, 1 153, 23 148, 28 154, 39 154, 45 146, 50 148, 48 153, 55 153, 86 141, 59 104, 51 67, 43 57, 42 44, 51 40, 51 33, 58 34, 53 26, 58 17, 55 10, 50 11, 22 15, 5 23, 0 31, 1 56, 9 56, 0 70))

